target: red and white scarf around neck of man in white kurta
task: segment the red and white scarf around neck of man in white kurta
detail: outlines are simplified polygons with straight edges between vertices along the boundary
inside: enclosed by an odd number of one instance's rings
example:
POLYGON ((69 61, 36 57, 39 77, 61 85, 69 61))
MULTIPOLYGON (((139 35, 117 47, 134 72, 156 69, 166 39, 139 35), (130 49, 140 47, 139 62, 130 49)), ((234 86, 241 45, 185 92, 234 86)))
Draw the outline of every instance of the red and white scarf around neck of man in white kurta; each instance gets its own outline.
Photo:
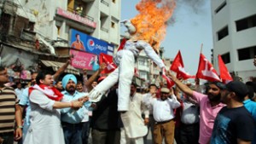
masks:
POLYGON ((54 101, 61 101, 63 98, 63 94, 61 94, 61 92, 55 87, 50 87, 44 84, 36 84, 28 89, 28 95, 31 94, 33 89, 38 89, 39 91, 43 92, 44 95, 46 95, 49 99, 54 101))

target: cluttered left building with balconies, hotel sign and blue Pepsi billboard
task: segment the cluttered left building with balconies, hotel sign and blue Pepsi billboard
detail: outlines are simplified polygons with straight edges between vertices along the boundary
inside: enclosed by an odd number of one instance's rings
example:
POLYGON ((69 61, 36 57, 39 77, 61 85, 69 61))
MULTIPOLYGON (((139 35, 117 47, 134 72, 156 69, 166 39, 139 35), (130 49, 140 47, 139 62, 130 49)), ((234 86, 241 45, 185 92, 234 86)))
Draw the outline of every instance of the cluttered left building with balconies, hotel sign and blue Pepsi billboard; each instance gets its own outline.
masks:
POLYGON ((42 59, 64 62, 69 49, 76 49, 77 34, 84 45, 81 51, 113 55, 119 45, 120 6, 116 0, 2 0, 2 63, 20 61, 27 68, 42 59))

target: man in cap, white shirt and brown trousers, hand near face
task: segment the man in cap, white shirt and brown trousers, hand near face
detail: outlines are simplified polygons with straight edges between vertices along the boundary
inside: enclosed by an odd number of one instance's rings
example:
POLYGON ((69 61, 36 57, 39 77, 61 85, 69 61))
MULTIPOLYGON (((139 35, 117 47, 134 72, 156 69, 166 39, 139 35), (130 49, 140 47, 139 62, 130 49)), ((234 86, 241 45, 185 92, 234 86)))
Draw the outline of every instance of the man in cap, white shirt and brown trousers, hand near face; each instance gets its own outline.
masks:
POLYGON ((163 138, 165 138, 166 144, 173 144, 175 128, 173 109, 180 107, 179 101, 173 95, 173 91, 163 87, 160 89, 160 98, 151 98, 149 99, 149 103, 153 107, 155 120, 154 143, 161 144, 163 138))

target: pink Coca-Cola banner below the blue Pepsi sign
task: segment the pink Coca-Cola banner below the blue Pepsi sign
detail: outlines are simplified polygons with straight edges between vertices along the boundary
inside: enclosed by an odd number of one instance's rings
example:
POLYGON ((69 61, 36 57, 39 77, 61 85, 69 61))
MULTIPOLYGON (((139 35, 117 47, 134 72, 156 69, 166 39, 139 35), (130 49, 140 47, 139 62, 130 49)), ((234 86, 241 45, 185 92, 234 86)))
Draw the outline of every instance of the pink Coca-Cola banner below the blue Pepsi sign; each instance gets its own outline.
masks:
POLYGON ((86 68, 87 70, 93 70, 94 60, 96 59, 97 55, 85 53, 84 51, 75 49, 70 49, 69 53, 70 55, 73 55, 71 66, 81 69, 86 68))

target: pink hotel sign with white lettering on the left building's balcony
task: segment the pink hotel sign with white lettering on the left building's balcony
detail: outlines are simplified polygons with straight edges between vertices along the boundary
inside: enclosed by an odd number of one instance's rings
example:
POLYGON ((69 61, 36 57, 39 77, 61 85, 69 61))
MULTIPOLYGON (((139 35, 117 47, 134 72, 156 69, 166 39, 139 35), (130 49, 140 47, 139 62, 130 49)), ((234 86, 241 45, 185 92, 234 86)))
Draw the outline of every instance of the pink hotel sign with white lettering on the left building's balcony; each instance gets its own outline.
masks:
POLYGON ((61 9, 61 8, 58 8, 57 9, 57 14, 61 15, 61 16, 64 16, 68 19, 71 19, 71 20, 75 20, 75 21, 79 21, 87 26, 91 26, 93 28, 96 28, 96 22, 93 22, 87 18, 84 18, 82 16, 80 16, 79 14, 73 14, 72 12, 70 11, 67 11, 67 10, 64 10, 64 9, 61 9))

